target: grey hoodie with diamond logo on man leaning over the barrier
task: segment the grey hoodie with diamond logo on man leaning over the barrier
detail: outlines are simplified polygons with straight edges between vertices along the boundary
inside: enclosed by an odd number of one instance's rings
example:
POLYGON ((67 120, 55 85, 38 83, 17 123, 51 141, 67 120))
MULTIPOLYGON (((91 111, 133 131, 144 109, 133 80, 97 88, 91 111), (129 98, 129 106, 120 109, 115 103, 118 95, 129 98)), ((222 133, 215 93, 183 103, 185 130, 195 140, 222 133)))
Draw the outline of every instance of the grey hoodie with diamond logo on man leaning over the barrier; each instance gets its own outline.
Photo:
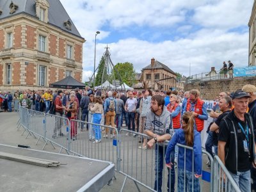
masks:
MULTIPOLYGON (((145 129, 150 130, 159 136, 164 134, 170 134, 170 136, 173 135, 172 116, 166 106, 164 106, 163 113, 160 116, 157 116, 152 111, 148 112, 145 129)), ((163 143, 159 143, 159 145, 163 145, 163 143)), ((164 145, 168 145, 168 143, 164 143, 164 145)))

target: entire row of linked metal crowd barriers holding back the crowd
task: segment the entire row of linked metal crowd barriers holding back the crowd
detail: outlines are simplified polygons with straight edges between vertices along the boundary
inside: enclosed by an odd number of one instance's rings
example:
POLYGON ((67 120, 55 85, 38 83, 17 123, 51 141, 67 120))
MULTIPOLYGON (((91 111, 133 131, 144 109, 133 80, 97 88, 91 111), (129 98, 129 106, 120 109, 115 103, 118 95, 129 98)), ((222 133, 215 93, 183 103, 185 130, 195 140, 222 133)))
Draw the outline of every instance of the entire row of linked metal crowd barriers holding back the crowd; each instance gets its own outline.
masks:
MULTIPOLYGON (((115 127, 106 125, 93 124, 89 122, 83 122, 80 120, 74 120, 65 118, 63 116, 45 114, 38 111, 22 108, 19 109, 19 123, 20 127, 24 128, 24 132, 28 132, 28 136, 37 138, 38 141, 42 139, 44 141, 44 147, 47 143, 51 143, 52 147, 60 147, 59 153, 65 150, 67 154, 84 156, 93 159, 99 159, 104 161, 111 161, 116 165, 116 172, 125 176, 121 191, 123 191, 127 179, 133 180, 138 191, 139 186, 143 186, 150 191, 156 191, 157 188, 162 186, 163 191, 175 191, 178 189, 177 175, 184 174, 181 182, 184 184, 184 191, 198 191, 196 186, 200 186, 200 191, 239 191, 234 179, 225 168, 225 165, 220 161, 218 156, 212 159, 211 155, 202 149, 202 162, 209 159, 211 170, 206 168, 202 164, 202 177, 194 182, 195 177, 189 179, 189 173, 184 172, 186 170, 186 164, 184 164, 183 172, 180 173, 179 164, 179 150, 184 150, 184 153, 191 150, 194 157, 193 148, 177 144, 177 160, 175 166, 170 171, 170 177, 168 180, 168 169, 165 166, 164 154, 165 147, 161 145, 154 145, 153 148, 141 148, 143 140, 148 141, 150 138, 145 135, 127 129, 121 129, 117 131, 115 127), (88 125, 89 130, 86 130, 88 125), (102 133, 101 140, 93 142, 95 135, 93 135, 93 129, 100 127, 102 133), (104 135, 108 133, 108 137, 104 135), (113 134, 115 137, 113 137, 113 134), (113 137, 113 138, 112 138, 113 137), (141 143, 139 142, 141 140, 141 143), (163 150, 163 156, 160 156, 156 151, 163 150), (161 164, 162 166, 156 166, 161 164), (162 171, 163 169, 163 171, 162 171), (172 175, 175 174, 175 177, 172 175), (163 176, 162 176, 163 175, 163 176), (225 177, 224 177, 225 175, 225 177), (220 177, 221 176, 221 177, 220 177), (162 179, 161 179, 162 178, 162 179), (173 179, 174 178, 174 179, 173 179), (225 178, 225 179, 224 179, 225 178), (156 183, 155 183, 156 180, 156 183), (161 181, 162 180, 162 181, 161 181), (175 182, 175 186, 172 184, 175 182), (169 185, 168 185, 169 183, 169 185), (187 188, 188 183, 191 183, 190 188, 187 188), (199 184, 199 185, 198 185, 199 184), (194 186, 195 185, 195 186, 194 186)), ((168 143, 166 143, 167 145, 168 143)), ((184 162, 186 162, 186 156, 184 156, 184 162)), ((194 172, 194 158, 192 173, 194 172)), ((179 177, 181 178, 181 176, 179 177)), ((180 180, 179 180, 180 182, 180 180)))

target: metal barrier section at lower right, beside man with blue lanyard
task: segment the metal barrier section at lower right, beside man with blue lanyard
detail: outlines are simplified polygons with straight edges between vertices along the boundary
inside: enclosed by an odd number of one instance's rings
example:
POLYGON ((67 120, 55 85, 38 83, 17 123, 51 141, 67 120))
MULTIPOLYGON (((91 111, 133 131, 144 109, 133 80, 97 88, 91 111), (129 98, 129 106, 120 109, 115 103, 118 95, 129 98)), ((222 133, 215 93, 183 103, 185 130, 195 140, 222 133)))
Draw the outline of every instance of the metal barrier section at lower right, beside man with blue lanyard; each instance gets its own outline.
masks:
POLYGON ((214 156, 213 168, 213 191, 241 191, 237 186, 235 180, 233 179, 232 175, 230 175, 227 168, 220 160, 220 157, 214 156))

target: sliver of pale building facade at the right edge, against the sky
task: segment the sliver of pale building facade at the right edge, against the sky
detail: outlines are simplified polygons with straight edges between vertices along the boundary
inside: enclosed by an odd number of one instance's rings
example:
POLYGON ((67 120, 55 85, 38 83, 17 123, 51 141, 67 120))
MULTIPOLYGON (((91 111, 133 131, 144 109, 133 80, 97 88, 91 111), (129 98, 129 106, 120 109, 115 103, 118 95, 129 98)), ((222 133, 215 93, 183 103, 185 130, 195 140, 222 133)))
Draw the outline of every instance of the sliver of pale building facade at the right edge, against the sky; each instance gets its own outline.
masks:
POLYGON ((256 61, 256 0, 254 0, 252 7, 252 14, 250 20, 248 22, 249 26, 249 58, 248 58, 248 66, 255 66, 256 61))

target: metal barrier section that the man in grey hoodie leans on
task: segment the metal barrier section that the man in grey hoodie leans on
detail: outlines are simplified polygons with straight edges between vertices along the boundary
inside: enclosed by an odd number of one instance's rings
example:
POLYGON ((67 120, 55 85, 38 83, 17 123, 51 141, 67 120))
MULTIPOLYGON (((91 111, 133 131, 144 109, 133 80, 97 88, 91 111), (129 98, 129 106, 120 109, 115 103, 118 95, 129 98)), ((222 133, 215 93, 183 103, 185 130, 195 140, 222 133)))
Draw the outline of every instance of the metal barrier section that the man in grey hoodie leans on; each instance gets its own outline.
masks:
MULTIPOLYGON (((139 191, 140 191, 140 188, 138 184, 149 189, 150 191, 155 191, 156 189, 160 191, 161 188, 163 188, 163 191, 173 191, 174 189, 175 190, 178 189, 178 182, 177 180, 175 180, 175 175, 179 175, 178 173, 179 166, 180 166, 178 161, 179 148, 182 148, 185 154, 186 154, 186 151, 188 152, 188 150, 191 150, 192 156, 194 157, 193 148, 185 145, 180 145, 179 143, 177 143, 177 146, 178 146, 177 167, 175 166, 175 168, 169 171, 168 168, 166 168, 165 161, 164 161, 164 156, 166 153, 168 142, 166 142, 165 147, 163 147, 163 144, 160 143, 158 145, 155 145, 152 149, 145 148, 143 150, 143 148, 139 148, 140 145, 142 145, 142 143, 140 144, 139 141, 148 140, 148 139, 150 138, 145 134, 129 131, 127 129, 121 129, 120 131, 120 141, 121 141, 120 142, 120 159, 121 159, 120 173, 125 175, 125 180, 123 182, 121 191, 124 189, 124 185, 127 178, 134 181, 134 184, 136 185, 139 191), (127 136, 127 134, 129 136, 127 136), (132 137, 132 134, 136 134, 138 136, 132 137), (168 173, 170 177, 168 177, 168 173), (175 183, 175 186, 174 186, 174 183, 175 183)), ((212 164, 213 159, 211 155, 205 150, 202 150, 202 158, 205 159, 208 157, 212 164)), ((174 154, 173 154, 173 159, 174 159, 174 154)), ((192 158, 191 161, 193 161, 192 164, 194 165, 194 158, 192 158)), ((185 162, 186 162, 186 156, 185 156, 185 162)), ((184 170, 186 170, 186 165, 183 167, 184 167, 184 170)), ((209 168, 207 168, 206 170, 206 168, 202 167, 203 177, 200 177, 200 179, 198 179, 198 184, 200 184, 200 191, 212 191, 212 167, 211 167, 211 173, 209 171, 210 171, 209 168)), ((193 172, 194 172, 194 167, 193 167, 192 173, 193 172)), ((184 172, 184 174, 186 174, 186 172, 184 172)), ((186 178, 188 179, 188 177, 184 177, 184 185, 186 183, 185 181, 187 181, 186 178)), ((194 177, 192 177, 192 186, 193 186, 193 179, 194 177)), ((189 191, 194 191, 194 188, 192 187, 192 189, 189 191)))

